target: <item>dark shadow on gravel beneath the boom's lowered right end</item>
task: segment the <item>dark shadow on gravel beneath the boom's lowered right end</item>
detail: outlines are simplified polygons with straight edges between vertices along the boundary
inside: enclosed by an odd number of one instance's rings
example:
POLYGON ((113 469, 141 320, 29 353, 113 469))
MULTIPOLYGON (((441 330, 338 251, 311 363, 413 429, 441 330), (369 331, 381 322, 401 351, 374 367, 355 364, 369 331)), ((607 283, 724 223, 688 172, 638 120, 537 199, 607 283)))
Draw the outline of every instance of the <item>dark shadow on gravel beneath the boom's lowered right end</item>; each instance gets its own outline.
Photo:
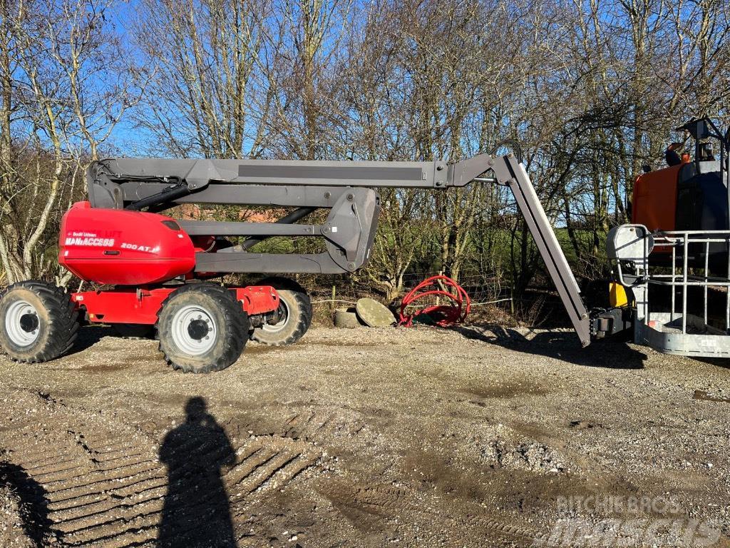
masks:
POLYGON ((483 340, 525 354, 560 359, 588 367, 642 369, 646 359, 646 354, 631 348, 625 337, 596 340, 583 348, 572 331, 539 332, 528 337, 518 330, 496 324, 457 325, 450 329, 469 339, 483 340))

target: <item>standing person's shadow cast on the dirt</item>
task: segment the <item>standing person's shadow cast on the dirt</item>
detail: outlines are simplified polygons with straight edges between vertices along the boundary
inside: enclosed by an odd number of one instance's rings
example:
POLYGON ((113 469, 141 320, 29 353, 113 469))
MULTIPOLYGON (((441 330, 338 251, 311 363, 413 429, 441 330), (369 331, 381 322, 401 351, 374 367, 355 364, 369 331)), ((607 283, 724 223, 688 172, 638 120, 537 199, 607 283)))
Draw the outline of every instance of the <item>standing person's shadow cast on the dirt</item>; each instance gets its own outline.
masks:
POLYGON ((224 468, 236 453, 223 427, 202 397, 185 404, 185 422, 165 436, 160 460, 167 465, 168 487, 162 508, 158 547, 234 548, 224 468))

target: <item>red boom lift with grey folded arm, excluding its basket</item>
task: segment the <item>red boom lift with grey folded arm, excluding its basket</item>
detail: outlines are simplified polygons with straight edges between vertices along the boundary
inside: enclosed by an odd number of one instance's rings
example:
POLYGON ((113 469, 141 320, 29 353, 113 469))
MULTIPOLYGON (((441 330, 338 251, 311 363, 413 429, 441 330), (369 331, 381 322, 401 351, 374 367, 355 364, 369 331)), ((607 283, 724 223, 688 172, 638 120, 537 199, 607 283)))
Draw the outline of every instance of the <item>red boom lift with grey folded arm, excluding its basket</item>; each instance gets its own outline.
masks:
POLYGON ((472 181, 510 186, 556 282, 581 343, 591 319, 580 290, 522 164, 512 154, 444 161, 268 161, 128 159, 96 161, 87 172, 88 202, 61 224, 58 260, 105 289, 66 293, 40 281, 0 296, 0 343, 12 359, 42 362, 68 351, 80 319, 121 333, 154 329, 174 368, 220 370, 250 338, 296 342, 310 327, 312 305, 301 286, 274 273, 350 273, 366 264, 380 212, 374 188, 445 190, 472 181), (275 223, 175 220, 159 214, 183 204, 293 208, 275 223), (323 224, 297 223, 318 209, 323 224), (319 254, 261 254, 271 236, 319 237, 319 254), (237 239, 232 240, 232 238, 237 239), (238 243, 236 243, 238 242, 238 243), (269 275, 253 286, 222 286, 226 273, 269 275))

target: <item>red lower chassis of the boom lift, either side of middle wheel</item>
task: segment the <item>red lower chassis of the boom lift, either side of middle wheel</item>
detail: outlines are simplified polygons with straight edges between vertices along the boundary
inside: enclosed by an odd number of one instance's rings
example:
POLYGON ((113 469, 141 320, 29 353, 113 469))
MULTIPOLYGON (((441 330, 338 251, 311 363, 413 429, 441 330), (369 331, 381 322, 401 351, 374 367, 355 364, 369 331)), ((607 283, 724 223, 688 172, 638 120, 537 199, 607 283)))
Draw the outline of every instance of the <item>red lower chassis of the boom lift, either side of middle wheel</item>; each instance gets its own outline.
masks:
MULTIPOLYGON (((104 324, 154 324, 162 302, 175 287, 135 289, 124 287, 102 291, 73 293, 76 308, 85 308, 89 321, 104 324)), ((273 312, 279 308, 279 294, 272 286, 228 288, 236 293, 249 316, 273 312)))

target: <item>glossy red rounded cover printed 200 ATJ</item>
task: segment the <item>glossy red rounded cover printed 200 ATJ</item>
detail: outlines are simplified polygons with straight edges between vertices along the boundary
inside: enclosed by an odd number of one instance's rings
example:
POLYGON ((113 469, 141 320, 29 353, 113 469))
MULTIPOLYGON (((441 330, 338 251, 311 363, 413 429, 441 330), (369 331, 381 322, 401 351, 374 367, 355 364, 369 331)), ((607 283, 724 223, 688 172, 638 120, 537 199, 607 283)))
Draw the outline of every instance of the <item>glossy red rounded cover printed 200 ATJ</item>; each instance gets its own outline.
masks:
POLYGON ((172 218, 77 202, 61 221, 58 262, 84 281, 139 286, 190 273, 195 249, 172 218))

